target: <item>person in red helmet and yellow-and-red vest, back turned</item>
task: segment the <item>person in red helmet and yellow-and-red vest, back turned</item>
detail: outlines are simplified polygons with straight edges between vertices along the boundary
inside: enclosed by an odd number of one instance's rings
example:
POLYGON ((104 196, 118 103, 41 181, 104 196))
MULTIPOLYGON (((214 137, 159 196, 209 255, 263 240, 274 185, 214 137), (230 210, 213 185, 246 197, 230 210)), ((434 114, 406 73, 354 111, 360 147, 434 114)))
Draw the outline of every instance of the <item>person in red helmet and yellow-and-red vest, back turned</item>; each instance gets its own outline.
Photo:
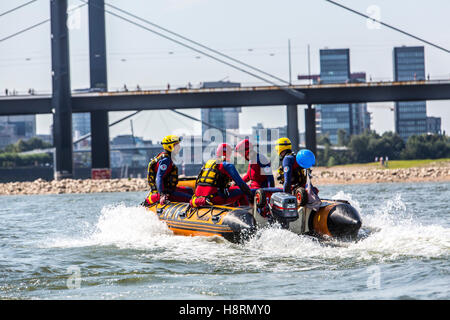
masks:
POLYGON ((191 207, 205 205, 248 206, 253 195, 242 180, 235 166, 230 162, 233 148, 226 143, 217 147, 216 158, 208 160, 200 170, 195 182, 195 193, 191 207), (232 182, 236 185, 230 186, 232 182))

